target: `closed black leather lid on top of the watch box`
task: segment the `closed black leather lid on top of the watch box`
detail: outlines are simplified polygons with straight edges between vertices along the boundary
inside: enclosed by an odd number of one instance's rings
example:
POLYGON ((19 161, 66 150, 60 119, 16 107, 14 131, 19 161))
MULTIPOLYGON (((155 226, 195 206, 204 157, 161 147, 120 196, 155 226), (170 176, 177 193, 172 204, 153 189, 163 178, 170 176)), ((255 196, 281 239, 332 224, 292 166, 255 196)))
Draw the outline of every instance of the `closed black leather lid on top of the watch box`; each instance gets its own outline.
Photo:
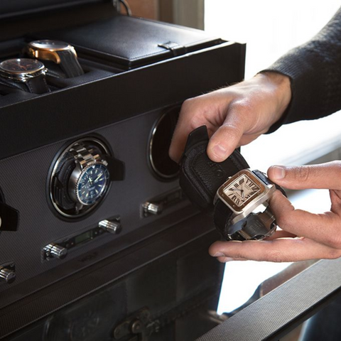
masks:
POLYGON ((80 56, 108 60, 125 68, 221 43, 219 38, 193 28, 120 15, 78 28, 48 32, 41 38, 67 41, 80 56))

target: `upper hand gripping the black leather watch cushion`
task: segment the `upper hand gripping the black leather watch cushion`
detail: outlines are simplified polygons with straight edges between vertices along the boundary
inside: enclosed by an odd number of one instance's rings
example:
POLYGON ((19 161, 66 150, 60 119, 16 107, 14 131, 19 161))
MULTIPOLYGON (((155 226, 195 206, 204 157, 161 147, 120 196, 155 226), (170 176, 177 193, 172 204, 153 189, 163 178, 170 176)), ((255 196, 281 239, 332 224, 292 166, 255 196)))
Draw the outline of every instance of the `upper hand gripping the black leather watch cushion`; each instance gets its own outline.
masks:
POLYGON ((212 161, 222 162, 235 148, 268 131, 290 100, 289 78, 275 72, 261 73, 237 85, 188 99, 180 111, 170 156, 178 162, 188 134, 206 125, 210 135, 207 154, 212 161))

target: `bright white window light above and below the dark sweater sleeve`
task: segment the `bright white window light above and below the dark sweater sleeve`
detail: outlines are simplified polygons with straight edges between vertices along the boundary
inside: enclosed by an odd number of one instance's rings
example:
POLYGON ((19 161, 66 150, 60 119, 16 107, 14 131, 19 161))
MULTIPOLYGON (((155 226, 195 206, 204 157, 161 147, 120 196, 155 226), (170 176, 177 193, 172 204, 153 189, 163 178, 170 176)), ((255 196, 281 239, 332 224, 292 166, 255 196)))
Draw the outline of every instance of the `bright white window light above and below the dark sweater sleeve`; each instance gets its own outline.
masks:
MULTIPOLYGON (((205 30, 247 43, 246 78, 320 31, 340 1, 206 0, 205 30)), ((281 127, 243 148, 251 168, 307 163, 341 146, 341 114, 281 127)))

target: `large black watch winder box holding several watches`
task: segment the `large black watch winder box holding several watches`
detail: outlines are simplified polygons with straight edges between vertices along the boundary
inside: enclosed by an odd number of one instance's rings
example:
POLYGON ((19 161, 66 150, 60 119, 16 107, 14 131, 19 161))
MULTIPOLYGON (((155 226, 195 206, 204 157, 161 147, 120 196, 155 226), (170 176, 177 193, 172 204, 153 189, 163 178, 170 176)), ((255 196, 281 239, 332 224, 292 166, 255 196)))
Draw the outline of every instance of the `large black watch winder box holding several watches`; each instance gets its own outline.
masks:
POLYGON ((242 80, 245 45, 115 4, 0 4, 0 339, 215 325, 219 236, 168 148, 185 99, 242 80))

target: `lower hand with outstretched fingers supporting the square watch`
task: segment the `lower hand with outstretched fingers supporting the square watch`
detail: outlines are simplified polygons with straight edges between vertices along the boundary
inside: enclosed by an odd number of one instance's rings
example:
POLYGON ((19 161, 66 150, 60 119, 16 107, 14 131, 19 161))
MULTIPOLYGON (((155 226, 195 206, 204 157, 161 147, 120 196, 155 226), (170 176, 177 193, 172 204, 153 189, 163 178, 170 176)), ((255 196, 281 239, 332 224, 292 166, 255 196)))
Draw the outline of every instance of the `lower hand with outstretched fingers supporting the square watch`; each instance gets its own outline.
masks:
POLYGON ((225 262, 232 259, 256 261, 301 261, 336 259, 341 256, 341 161, 313 166, 272 166, 269 178, 293 190, 325 188, 330 190, 330 211, 313 214, 295 210, 279 191, 270 207, 282 231, 263 241, 215 242, 211 256, 225 262), (298 237, 296 237, 298 236, 298 237))

